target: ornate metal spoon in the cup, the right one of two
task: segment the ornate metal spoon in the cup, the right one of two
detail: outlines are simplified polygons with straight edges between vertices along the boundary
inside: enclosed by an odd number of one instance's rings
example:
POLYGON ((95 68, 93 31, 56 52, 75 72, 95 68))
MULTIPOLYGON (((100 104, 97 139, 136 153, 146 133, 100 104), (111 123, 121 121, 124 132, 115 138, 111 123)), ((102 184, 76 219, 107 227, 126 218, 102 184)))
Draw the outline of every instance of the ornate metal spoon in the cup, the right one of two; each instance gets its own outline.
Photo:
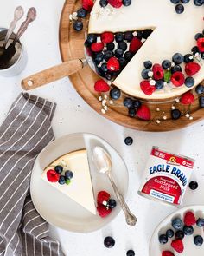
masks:
POLYGON ((22 34, 28 29, 29 23, 35 21, 36 18, 36 10, 34 7, 30 8, 26 20, 22 23, 21 27, 17 31, 17 34, 14 38, 14 41, 10 43, 10 46, 3 52, 3 55, 0 56, 0 69, 5 69, 12 59, 12 57, 16 54, 16 43, 22 36, 22 34))

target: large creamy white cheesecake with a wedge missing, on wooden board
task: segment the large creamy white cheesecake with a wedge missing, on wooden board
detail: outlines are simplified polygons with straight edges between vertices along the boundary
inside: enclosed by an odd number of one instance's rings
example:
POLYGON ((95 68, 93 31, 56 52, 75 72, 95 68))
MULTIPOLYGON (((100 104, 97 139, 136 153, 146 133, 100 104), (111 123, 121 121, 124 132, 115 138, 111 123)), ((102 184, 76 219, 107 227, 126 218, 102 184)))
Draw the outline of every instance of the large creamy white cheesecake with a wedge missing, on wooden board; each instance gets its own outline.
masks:
MULTIPOLYGON (((170 60, 175 53, 183 56, 190 53, 196 44, 195 34, 204 28, 204 7, 194 5, 194 1, 185 5, 181 15, 175 12, 174 4, 163 0, 132 0, 130 6, 113 8, 110 4, 102 8, 96 0, 89 21, 89 33, 100 34, 105 31, 125 32, 135 30, 154 30, 143 43, 135 56, 113 81, 124 93, 143 99, 163 100, 182 95, 192 88, 185 85, 175 87, 171 83, 152 95, 145 95, 140 88, 143 78, 143 62, 162 63, 170 60)), ((204 62, 194 60, 201 65, 194 75, 194 87, 204 80, 204 62)), ((182 69, 184 64, 182 63, 182 69)))

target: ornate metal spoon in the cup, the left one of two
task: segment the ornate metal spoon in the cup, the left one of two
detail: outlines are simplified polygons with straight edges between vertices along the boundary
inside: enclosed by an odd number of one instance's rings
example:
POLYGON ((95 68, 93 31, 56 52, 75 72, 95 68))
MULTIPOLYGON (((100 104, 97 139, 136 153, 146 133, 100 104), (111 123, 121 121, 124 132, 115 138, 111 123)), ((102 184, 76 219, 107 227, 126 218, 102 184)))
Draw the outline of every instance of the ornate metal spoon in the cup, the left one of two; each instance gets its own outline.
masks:
POLYGON ((9 30, 6 33, 6 37, 4 39, 3 46, 0 48, 0 56, 3 54, 3 51, 6 48, 6 45, 7 45, 8 41, 9 41, 9 39, 10 39, 10 36, 12 35, 13 31, 16 28, 16 23, 22 18, 23 14, 24 14, 24 11, 22 9, 22 6, 16 7, 16 10, 14 11, 14 19, 10 23, 10 28, 9 28, 9 30))

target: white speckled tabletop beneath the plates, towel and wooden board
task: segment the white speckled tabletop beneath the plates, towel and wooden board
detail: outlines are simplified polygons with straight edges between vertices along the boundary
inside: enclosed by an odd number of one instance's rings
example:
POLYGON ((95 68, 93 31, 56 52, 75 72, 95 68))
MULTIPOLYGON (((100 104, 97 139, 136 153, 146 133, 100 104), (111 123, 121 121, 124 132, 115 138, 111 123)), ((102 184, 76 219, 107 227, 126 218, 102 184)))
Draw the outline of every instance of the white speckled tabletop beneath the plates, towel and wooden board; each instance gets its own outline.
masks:
MULTIPOLYGON (((11 102, 22 91, 20 87, 21 79, 61 62, 58 47, 58 28, 64 1, 1 0, 1 2, 1 26, 8 26, 13 16, 12 11, 18 4, 22 4, 27 10, 33 5, 38 11, 37 20, 30 25, 26 35, 23 36, 23 42, 29 55, 26 69, 16 77, 0 77, 0 121, 2 122, 11 102)), ((52 233, 61 240, 66 255, 123 256, 126 250, 130 248, 135 250, 137 256, 149 255, 149 241, 156 225, 167 214, 175 210, 172 207, 145 200, 137 195, 143 168, 153 145, 168 148, 172 152, 186 154, 195 158, 193 178, 199 181, 200 187, 195 192, 188 190, 183 206, 204 204, 204 121, 200 121, 191 127, 168 133, 138 132, 118 126, 94 112, 75 92, 68 78, 49 84, 41 89, 35 89, 32 93, 57 102, 53 121, 56 137, 73 132, 89 132, 99 135, 109 141, 123 155, 124 161, 129 168, 130 187, 127 201, 134 213, 137 214, 137 226, 126 226, 124 215, 120 213, 118 218, 109 226, 95 233, 69 233, 53 227, 52 233), (124 145, 124 137, 126 135, 130 135, 134 139, 134 144, 131 147, 124 145), (103 239, 106 235, 112 235, 116 240, 116 245, 112 249, 105 249, 103 246, 103 239)))

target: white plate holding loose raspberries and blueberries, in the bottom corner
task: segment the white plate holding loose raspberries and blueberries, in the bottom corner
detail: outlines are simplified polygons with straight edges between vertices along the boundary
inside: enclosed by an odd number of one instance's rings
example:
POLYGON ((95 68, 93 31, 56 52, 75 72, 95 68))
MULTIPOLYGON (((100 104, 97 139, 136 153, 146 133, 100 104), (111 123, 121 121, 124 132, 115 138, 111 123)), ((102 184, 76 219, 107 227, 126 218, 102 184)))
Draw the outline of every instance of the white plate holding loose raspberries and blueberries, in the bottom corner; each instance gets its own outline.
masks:
POLYGON ((162 233, 165 233, 169 228, 171 227, 171 220, 173 220, 175 217, 182 218, 184 217, 184 214, 188 211, 193 211, 196 219, 198 218, 204 218, 204 206, 190 206, 190 207, 184 207, 182 209, 179 209, 175 213, 172 213, 167 217, 165 220, 163 220, 159 226, 156 227, 155 232, 152 235, 152 238, 150 240, 150 251, 149 256, 162 256, 163 251, 171 251, 175 254, 175 256, 203 256, 204 255, 204 244, 202 246, 195 246, 194 245, 194 236, 195 235, 201 235, 204 237, 203 228, 194 226, 194 234, 190 236, 185 236, 183 239, 183 245, 184 245, 184 251, 183 253, 176 253, 174 252, 174 249, 170 246, 171 240, 169 239, 169 242, 166 245, 160 245, 158 236, 162 233))

